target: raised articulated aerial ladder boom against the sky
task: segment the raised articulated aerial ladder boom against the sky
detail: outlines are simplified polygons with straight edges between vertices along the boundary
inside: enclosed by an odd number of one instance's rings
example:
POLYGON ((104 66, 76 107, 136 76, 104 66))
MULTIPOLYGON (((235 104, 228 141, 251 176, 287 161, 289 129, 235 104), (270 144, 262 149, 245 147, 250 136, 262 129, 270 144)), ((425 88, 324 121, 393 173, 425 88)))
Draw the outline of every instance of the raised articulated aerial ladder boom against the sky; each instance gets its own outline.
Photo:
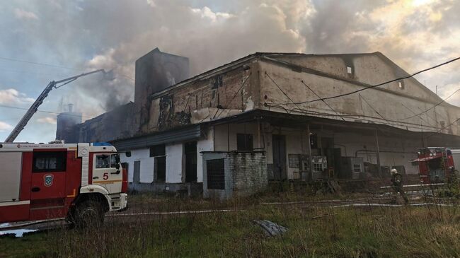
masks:
POLYGON ((60 80, 60 81, 51 81, 50 83, 48 83, 48 85, 46 86, 45 90, 43 90, 42 93, 40 94, 40 96, 38 96, 37 100, 35 100, 35 102, 33 102, 32 106, 30 106, 29 110, 27 110, 27 112, 25 112, 25 115, 23 116, 23 118, 21 118, 21 120, 16 125, 16 127, 14 127, 13 131, 11 131, 11 134, 6 138, 5 142, 6 143, 12 143, 16 139, 16 137, 21 133, 21 131, 23 131, 25 125, 30 121, 30 118, 33 117, 35 112, 37 112, 38 107, 40 107, 40 105, 42 105, 43 100, 45 100, 45 98, 47 97, 48 93, 50 93, 50 91, 53 88, 60 88, 60 87, 62 87, 64 85, 66 85, 67 83, 71 83, 72 81, 75 81, 77 78, 80 78, 82 76, 87 76, 89 74, 95 74, 95 73, 97 73, 99 71, 101 71, 101 72, 103 72, 105 74, 104 69, 99 69, 99 70, 96 70, 96 71, 90 71, 90 72, 85 73, 85 74, 80 74, 80 75, 77 75, 77 76, 72 76, 72 77, 69 77, 69 78, 65 78, 65 79, 60 80), (59 84, 59 83, 64 83, 64 84, 62 84, 60 86, 57 86, 57 84, 59 84))

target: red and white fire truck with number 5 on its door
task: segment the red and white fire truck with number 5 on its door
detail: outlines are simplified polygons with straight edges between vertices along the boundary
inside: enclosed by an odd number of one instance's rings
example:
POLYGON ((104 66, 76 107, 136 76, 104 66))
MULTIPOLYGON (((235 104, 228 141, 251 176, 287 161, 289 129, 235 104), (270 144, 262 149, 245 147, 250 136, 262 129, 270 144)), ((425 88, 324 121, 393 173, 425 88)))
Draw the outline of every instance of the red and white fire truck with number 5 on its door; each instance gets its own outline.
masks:
POLYGON ((127 206, 127 173, 109 143, 0 143, 0 223, 102 222, 127 206))

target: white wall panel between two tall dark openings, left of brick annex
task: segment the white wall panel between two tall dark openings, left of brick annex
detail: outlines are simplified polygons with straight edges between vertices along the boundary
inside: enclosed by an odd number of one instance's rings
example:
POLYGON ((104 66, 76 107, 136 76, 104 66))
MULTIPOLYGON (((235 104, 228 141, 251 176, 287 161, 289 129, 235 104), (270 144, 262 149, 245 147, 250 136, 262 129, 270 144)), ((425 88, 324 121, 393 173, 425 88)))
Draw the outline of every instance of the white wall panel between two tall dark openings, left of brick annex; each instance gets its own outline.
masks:
POLYGON ((184 168, 183 143, 166 145, 166 182, 182 182, 184 168))

